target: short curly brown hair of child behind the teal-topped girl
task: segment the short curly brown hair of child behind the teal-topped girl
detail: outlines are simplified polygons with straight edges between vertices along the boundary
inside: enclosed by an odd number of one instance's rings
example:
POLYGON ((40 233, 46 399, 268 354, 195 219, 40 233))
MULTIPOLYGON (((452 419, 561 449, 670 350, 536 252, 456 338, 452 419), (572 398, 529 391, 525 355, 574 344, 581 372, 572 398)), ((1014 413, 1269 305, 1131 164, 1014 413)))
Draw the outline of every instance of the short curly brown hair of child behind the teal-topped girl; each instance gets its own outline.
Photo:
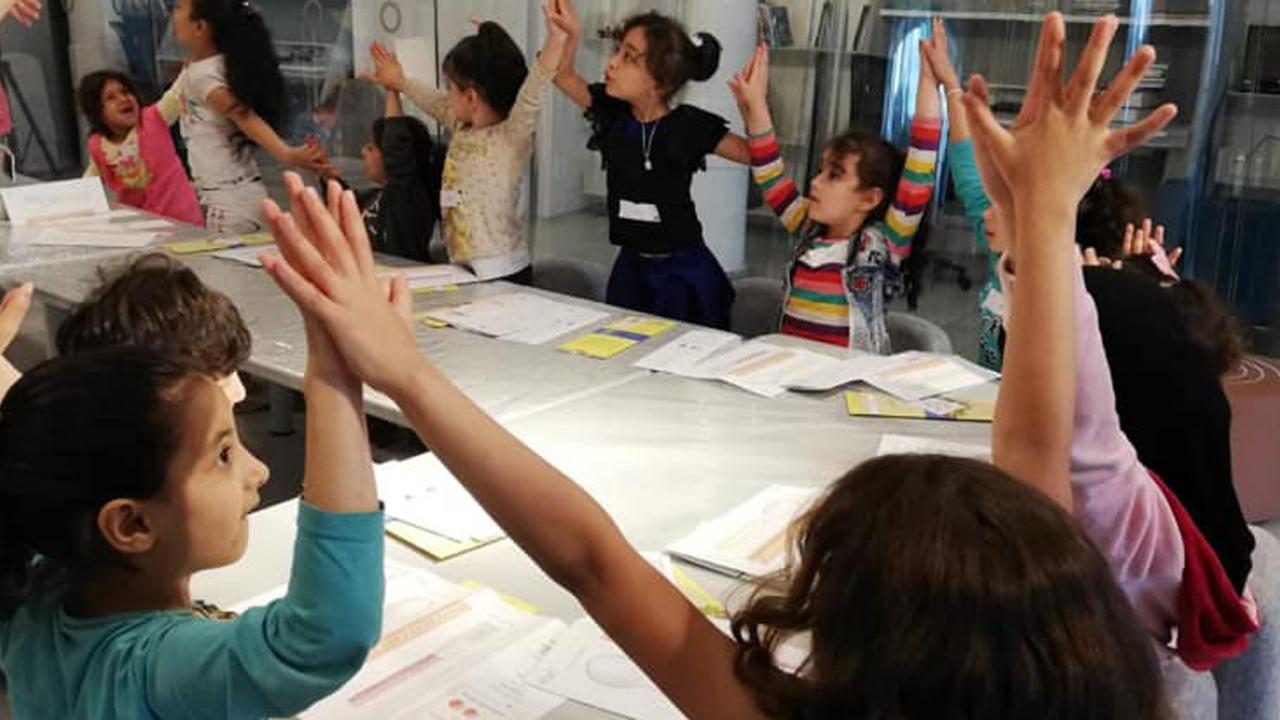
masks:
POLYGON ((173 348, 206 375, 229 375, 248 360, 252 338, 239 310, 189 268, 151 252, 116 270, 58 328, 61 355, 111 345, 173 348))

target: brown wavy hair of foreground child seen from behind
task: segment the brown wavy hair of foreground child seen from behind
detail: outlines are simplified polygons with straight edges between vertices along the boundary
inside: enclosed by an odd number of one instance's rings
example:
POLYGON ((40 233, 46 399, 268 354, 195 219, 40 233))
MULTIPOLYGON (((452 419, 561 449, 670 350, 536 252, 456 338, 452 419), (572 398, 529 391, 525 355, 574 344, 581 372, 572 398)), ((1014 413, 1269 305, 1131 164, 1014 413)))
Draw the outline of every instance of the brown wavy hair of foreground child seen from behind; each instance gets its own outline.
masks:
POLYGON ((1155 646, 1111 568, 1044 495, 973 460, 899 455, 841 478, 797 556, 732 621, 735 669, 795 720, 1157 720, 1155 646), (808 633, 796 674, 774 665, 808 633))

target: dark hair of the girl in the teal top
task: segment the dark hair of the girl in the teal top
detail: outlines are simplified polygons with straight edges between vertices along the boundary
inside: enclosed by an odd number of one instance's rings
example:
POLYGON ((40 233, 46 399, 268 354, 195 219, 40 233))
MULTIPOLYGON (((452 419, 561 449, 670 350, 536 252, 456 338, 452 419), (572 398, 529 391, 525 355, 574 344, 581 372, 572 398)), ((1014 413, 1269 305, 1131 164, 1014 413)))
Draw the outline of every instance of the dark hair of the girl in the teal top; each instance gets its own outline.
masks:
POLYGON ((0 404, 0 616, 29 592, 36 555, 76 578, 118 561, 102 505, 160 492, 188 379, 180 355, 115 346, 56 357, 0 404))

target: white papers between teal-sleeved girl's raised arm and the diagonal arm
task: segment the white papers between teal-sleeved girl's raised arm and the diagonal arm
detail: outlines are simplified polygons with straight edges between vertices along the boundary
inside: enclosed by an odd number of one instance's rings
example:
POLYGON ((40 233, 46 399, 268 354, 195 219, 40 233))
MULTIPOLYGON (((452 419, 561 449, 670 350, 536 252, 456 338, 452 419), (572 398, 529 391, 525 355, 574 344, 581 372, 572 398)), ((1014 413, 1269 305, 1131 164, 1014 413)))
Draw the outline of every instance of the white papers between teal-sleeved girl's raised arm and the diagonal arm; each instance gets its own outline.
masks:
POLYGON ((387 532, 435 560, 447 560, 506 537, 435 455, 374 468, 387 532))

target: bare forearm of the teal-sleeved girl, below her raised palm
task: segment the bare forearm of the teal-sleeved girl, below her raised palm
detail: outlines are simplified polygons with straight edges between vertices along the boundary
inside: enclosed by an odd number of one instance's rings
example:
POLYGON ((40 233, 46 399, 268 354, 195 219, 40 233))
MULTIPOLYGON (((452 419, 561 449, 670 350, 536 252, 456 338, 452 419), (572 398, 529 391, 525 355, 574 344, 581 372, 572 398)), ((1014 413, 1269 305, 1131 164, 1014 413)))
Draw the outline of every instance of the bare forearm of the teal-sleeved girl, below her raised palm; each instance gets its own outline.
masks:
POLYGON ((328 512, 376 511, 361 384, 308 368, 302 386, 307 404, 303 500, 328 512))

